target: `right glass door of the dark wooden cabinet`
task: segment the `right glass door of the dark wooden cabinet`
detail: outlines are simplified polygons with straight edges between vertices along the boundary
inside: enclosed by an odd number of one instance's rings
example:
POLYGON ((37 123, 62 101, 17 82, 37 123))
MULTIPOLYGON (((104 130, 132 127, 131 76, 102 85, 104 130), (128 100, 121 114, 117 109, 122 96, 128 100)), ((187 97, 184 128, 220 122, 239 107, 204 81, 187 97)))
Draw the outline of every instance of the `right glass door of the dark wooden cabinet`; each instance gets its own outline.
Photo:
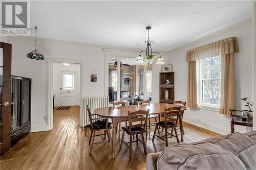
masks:
POLYGON ((23 80, 23 124, 30 120, 30 81, 23 80))

